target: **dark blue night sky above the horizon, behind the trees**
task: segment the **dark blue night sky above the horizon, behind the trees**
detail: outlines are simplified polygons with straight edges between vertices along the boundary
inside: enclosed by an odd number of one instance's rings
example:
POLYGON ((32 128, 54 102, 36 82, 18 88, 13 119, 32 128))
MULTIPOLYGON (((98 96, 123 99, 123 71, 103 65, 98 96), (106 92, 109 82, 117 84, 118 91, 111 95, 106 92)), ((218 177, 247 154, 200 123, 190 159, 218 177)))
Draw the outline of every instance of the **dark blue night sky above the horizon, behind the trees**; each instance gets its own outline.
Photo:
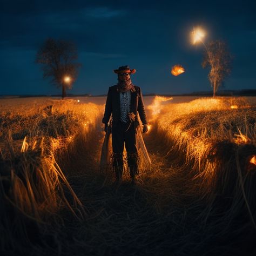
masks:
POLYGON ((193 26, 205 42, 223 39, 234 55, 225 89, 256 89, 256 1, 8 1, 0 9, 0 95, 56 94, 35 55, 48 37, 71 39, 83 64, 70 93, 104 94, 113 69, 129 65, 143 93, 211 90, 201 68, 203 45, 190 44, 193 26), (171 75, 174 64, 186 72, 171 75))

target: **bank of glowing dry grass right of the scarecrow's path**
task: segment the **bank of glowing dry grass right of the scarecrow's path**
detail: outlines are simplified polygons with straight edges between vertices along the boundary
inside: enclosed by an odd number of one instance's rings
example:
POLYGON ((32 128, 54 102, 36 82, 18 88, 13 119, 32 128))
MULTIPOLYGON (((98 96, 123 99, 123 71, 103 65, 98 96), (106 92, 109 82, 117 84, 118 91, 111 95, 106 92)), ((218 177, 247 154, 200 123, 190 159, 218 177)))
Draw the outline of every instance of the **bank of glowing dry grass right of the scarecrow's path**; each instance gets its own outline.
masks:
POLYGON ((207 221, 218 211, 230 224, 243 214, 256 228, 255 165, 250 163, 256 154, 255 106, 245 98, 198 99, 166 105, 164 111, 156 123, 170 141, 168 154, 190 169, 199 196, 208 201, 198 218, 207 221))

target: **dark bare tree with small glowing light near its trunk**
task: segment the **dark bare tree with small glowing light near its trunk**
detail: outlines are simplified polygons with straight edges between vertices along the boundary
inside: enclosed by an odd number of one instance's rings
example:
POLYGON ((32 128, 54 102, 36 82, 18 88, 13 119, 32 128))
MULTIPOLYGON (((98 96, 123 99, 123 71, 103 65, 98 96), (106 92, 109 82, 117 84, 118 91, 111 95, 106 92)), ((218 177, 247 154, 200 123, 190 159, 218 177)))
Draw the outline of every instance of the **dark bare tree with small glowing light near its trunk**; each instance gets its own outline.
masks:
POLYGON ((80 63, 76 45, 69 41, 46 39, 36 55, 36 63, 42 65, 44 78, 51 78, 51 83, 62 87, 62 98, 66 89, 71 89, 75 82, 80 63))

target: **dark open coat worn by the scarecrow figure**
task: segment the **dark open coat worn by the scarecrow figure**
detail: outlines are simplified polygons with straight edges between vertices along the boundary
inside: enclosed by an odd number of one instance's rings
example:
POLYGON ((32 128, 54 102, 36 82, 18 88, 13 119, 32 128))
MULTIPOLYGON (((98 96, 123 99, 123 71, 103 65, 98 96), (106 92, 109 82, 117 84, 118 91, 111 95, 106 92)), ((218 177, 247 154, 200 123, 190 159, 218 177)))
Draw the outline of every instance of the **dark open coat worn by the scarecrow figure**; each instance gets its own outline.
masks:
MULTIPOLYGON (((147 116, 146 111, 143 104, 143 98, 142 98, 142 90, 140 87, 134 85, 134 92, 131 92, 131 112, 134 114, 138 114, 140 120, 142 120, 143 124, 147 123, 147 116)), ((106 99, 106 105, 105 105, 105 113, 104 117, 102 119, 102 123, 106 124, 109 122, 110 116, 112 113, 113 117, 113 126, 117 124, 119 118, 120 118, 120 95, 117 91, 117 86, 111 86, 109 87, 109 92, 107 92, 107 99, 106 99)), ((134 122, 137 126, 139 123, 134 122)))

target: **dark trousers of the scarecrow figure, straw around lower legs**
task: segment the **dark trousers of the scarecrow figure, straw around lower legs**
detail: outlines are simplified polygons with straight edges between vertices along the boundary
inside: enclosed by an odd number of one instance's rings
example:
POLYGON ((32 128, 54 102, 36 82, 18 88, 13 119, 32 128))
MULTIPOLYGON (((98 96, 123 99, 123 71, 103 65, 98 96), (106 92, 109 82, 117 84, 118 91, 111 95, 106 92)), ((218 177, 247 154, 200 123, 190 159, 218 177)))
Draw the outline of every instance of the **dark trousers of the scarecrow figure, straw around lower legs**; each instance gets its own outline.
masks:
POLYGON ((133 122, 118 123, 112 126, 112 147, 113 147, 113 168, 117 178, 121 178, 123 174, 123 151, 124 145, 127 152, 127 160, 132 178, 139 173, 138 170, 138 149, 136 141, 136 130, 133 122))

